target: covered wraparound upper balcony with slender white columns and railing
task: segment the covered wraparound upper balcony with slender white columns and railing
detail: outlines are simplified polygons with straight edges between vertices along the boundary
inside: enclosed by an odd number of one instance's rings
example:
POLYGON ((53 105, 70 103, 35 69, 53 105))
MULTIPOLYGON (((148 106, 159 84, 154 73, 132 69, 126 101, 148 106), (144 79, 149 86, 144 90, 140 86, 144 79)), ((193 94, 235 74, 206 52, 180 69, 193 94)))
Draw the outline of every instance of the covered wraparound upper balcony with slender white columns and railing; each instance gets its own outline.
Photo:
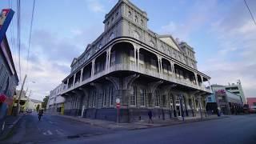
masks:
POLYGON ((62 94, 115 71, 133 71, 196 90, 210 90, 210 77, 135 42, 114 41, 62 82, 62 94), (206 88, 208 82, 209 88, 206 88))

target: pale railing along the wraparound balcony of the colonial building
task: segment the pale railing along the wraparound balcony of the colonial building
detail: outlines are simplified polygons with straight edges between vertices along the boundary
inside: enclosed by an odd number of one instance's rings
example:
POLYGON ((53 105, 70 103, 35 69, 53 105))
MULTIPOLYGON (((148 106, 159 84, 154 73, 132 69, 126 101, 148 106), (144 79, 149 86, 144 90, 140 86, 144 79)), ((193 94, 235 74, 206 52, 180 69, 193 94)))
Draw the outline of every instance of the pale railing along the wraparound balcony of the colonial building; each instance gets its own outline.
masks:
POLYGON ((114 64, 114 65, 110 66, 109 69, 107 69, 107 70, 102 70, 102 71, 98 72, 97 74, 94 74, 90 78, 86 78, 82 82, 76 82, 74 84, 74 86, 71 86, 70 88, 67 88, 67 86, 64 85, 62 94, 65 94, 66 92, 68 92, 70 90, 74 90, 75 88, 78 88, 79 86, 82 86, 82 85, 84 85, 88 82, 93 82, 97 78, 101 78, 102 76, 104 76, 106 74, 110 74, 111 72, 118 71, 118 70, 135 71, 135 72, 138 72, 138 73, 141 73, 141 74, 146 74, 146 75, 153 76, 155 78, 161 78, 161 79, 164 79, 164 80, 169 81, 169 82, 178 83, 178 84, 181 84, 181 85, 184 85, 184 86, 190 86, 194 89, 211 92, 210 88, 207 89, 204 85, 197 86, 196 84, 194 84, 193 82, 191 82, 188 79, 174 78, 172 74, 160 74, 157 71, 158 69, 151 69, 150 70, 150 69, 147 69, 143 66, 140 66, 139 70, 138 70, 138 67, 134 63, 133 64, 119 63, 119 64, 114 64))

